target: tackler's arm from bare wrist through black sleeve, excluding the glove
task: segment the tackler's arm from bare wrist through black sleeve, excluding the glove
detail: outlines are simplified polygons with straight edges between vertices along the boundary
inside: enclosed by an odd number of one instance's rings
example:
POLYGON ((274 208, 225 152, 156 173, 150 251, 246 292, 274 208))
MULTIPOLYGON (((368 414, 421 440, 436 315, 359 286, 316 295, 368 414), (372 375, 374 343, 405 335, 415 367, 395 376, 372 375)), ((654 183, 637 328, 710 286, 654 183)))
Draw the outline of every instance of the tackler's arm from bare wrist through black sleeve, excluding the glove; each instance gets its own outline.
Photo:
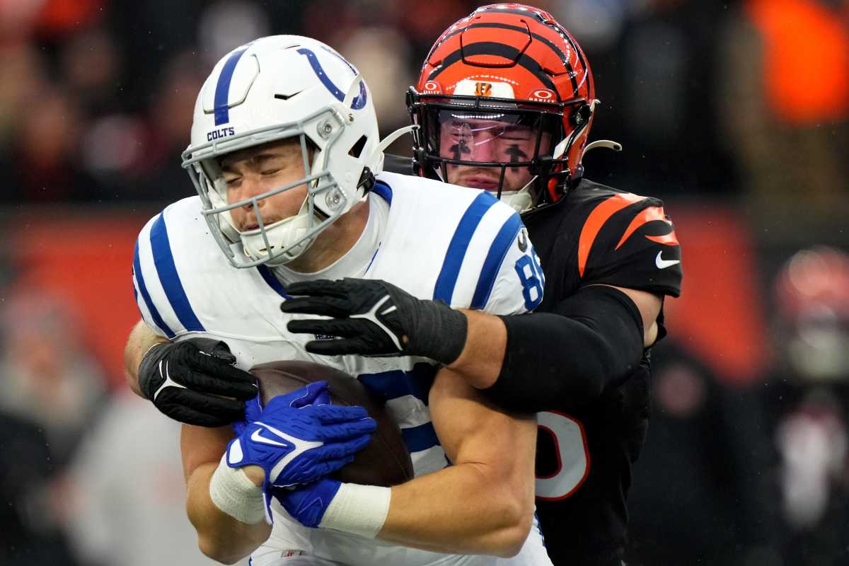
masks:
POLYGON ((544 374, 533 371, 527 361, 535 367, 557 367, 557 378, 539 380, 548 386, 523 387, 520 408, 526 411, 546 410, 564 395, 579 403, 576 396, 599 395, 607 383, 627 377, 643 348, 654 344, 662 302, 656 294, 607 285, 588 286, 581 294, 561 302, 552 313, 502 318, 464 311, 469 322, 466 343, 448 367, 504 406, 517 401, 513 387, 504 390, 508 382, 523 374, 544 374))

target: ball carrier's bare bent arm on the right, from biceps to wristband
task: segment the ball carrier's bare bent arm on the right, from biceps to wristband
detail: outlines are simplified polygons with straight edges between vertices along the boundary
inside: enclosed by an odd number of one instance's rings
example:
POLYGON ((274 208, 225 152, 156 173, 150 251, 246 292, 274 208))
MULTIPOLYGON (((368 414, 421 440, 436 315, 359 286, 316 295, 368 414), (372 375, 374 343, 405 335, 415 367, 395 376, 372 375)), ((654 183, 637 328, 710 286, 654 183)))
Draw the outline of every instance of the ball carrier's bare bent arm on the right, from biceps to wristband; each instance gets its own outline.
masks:
POLYGON ((393 487, 378 537, 439 552, 513 556, 533 519, 536 420, 498 410, 447 369, 430 390, 430 414, 453 466, 393 487))

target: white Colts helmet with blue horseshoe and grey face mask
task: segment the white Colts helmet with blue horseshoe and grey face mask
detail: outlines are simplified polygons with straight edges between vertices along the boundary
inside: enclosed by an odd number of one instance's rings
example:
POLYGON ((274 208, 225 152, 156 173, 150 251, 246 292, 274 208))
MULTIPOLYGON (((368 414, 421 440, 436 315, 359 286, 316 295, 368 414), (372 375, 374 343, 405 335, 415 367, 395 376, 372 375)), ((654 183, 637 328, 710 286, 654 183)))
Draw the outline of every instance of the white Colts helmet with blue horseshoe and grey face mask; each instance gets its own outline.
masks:
POLYGON ((212 235, 236 267, 278 266, 362 199, 383 166, 371 93, 357 70, 309 37, 268 36, 233 49, 212 70, 194 105, 183 152, 212 235), (228 203, 222 155, 298 138, 306 177, 228 203), (317 151, 309 161, 307 140, 317 151), (306 185, 295 216, 265 225, 258 201, 306 185), (259 227, 239 232, 230 210, 251 205, 259 227))

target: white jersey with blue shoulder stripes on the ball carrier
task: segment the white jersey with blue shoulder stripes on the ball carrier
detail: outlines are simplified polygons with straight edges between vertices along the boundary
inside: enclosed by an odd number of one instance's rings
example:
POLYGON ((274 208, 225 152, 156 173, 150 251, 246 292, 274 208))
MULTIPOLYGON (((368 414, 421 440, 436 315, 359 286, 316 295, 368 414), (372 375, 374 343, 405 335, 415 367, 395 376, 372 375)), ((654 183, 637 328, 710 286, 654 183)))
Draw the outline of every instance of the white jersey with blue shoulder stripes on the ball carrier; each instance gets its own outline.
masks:
MULTIPOLYGON (((368 222, 357 244, 332 266, 309 274, 284 266, 230 266, 208 231, 200 199, 177 201, 152 218, 139 234, 133 257, 134 290, 144 321, 156 333, 173 340, 222 339, 244 369, 267 361, 303 360, 357 377, 386 400, 418 476, 448 465, 427 406, 435 362, 410 356, 317 356, 307 352, 306 342, 317 337, 289 333, 286 324, 313 317, 279 310, 287 297, 286 283, 316 278, 383 279, 421 299, 516 314, 542 300, 543 276, 520 217, 489 193, 381 173, 368 199, 368 222)), ((308 529, 293 521, 277 502, 273 514, 272 535, 255 552, 254 563, 269 555, 279 558, 281 552, 304 552, 354 566, 488 564, 495 560, 425 552, 308 529), (479 559, 483 562, 475 562, 479 559)), ((535 554, 543 548, 536 529, 531 531, 529 545, 535 554)))

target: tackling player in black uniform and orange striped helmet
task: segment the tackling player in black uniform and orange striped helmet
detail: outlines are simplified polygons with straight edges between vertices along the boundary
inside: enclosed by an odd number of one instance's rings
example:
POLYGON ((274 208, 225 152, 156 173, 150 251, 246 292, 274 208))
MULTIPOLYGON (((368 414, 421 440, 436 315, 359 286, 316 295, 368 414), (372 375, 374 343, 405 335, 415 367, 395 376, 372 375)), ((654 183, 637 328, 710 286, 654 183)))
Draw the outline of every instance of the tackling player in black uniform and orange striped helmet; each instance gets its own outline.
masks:
POLYGON ((665 334, 663 297, 678 296, 682 271, 660 200, 583 177, 596 102, 586 56, 550 14, 505 3, 459 20, 408 93, 419 126, 412 164, 390 158, 385 168, 412 165, 520 211, 545 273, 544 295, 535 266, 519 275, 536 312, 454 311, 360 280, 304 283, 284 309, 337 317, 300 328, 342 337, 315 351, 436 356, 494 403, 538 412, 549 555, 618 566, 649 417, 649 346, 665 334))

